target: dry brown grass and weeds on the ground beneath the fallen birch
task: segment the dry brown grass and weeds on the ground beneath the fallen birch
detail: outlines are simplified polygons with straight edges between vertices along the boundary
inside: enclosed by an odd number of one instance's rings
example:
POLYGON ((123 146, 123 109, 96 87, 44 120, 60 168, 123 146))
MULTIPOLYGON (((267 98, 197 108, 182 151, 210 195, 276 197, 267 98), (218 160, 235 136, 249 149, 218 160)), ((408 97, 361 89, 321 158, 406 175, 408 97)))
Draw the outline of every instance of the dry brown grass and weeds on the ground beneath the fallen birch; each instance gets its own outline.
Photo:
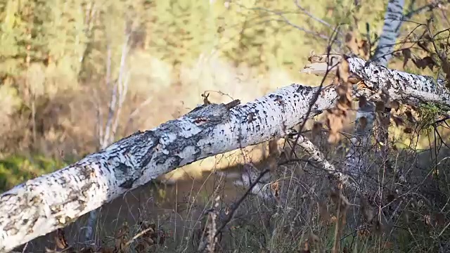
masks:
MULTIPOLYGON (((316 143, 333 150, 323 144, 326 139, 323 134, 316 143)), ((210 252, 214 242, 214 252, 446 252, 450 150, 441 148, 435 157, 433 149, 410 146, 391 155, 395 167, 371 168, 357 194, 330 184, 324 171, 305 162, 271 172, 269 183, 278 198, 250 195, 239 205, 247 189, 214 171, 174 185, 150 183, 102 208, 95 247, 78 239, 86 217, 65 228, 64 251, 210 252), (405 171, 407 183, 394 171, 405 171)), ((297 156, 307 158, 301 150, 297 156)), ((342 161, 339 153, 330 156, 335 164, 342 161)), ((266 166, 267 161, 256 164, 266 166)), ((28 249, 61 245, 55 235, 35 240, 28 249)))

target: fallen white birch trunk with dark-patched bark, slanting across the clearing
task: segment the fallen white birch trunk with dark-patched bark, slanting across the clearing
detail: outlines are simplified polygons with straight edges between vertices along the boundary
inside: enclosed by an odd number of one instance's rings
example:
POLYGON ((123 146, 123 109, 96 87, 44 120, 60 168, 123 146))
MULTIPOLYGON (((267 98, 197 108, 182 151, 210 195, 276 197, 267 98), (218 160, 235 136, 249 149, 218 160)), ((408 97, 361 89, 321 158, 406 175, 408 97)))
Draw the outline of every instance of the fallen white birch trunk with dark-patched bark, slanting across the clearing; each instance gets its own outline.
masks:
MULTIPOLYGON (((385 89, 392 99, 404 103, 424 100, 450 105, 450 92, 432 77, 388 70, 359 58, 347 60, 352 74, 366 82, 373 97, 385 89)), ((0 195, 0 252, 63 228, 172 169, 285 136, 305 120, 318 89, 292 84, 231 109, 224 104, 202 105, 179 119, 139 131, 75 164, 15 186, 0 195)), ((310 116, 332 107, 336 98, 333 87, 323 89, 310 116)))

